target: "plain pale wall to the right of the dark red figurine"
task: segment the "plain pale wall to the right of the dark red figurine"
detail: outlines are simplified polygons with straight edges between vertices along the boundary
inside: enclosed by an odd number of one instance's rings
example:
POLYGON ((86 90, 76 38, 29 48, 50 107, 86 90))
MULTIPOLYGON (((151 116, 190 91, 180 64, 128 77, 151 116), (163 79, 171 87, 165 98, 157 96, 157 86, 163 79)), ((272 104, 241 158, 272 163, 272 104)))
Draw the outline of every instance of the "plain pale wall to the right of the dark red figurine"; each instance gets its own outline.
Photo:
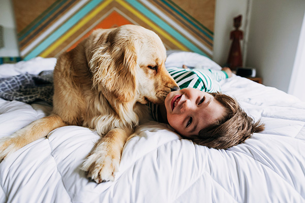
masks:
POLYGON ((246 64, 264 85, 288 91, 304 11, 303 0, 253 1, 246 64))

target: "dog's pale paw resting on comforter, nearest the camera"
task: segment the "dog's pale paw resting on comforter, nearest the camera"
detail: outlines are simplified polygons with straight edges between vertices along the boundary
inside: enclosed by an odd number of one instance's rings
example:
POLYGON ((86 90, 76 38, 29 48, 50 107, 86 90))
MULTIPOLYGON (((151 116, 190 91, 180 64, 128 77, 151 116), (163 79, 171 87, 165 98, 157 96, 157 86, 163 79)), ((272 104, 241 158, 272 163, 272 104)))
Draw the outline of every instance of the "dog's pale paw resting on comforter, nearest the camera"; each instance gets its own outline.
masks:
POLYGON ((94 150, 94 152, 84 161, 82 170, 87 172, 88 178, 97 183, 114 181, 118 172, 120 156, 106 150, 94 150))

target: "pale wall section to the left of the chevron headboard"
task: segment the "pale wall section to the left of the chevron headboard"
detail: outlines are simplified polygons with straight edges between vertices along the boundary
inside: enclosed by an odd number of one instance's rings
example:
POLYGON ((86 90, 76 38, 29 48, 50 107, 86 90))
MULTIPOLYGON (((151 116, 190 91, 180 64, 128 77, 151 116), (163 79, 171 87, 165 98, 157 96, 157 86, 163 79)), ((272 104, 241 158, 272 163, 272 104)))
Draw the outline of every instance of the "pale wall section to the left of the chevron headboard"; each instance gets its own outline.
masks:
POLYGON ((0 48, 0 57, 19 56, 13 6, 10 0, 0 0, 0 25, 4 30, 4 47, 0 48))

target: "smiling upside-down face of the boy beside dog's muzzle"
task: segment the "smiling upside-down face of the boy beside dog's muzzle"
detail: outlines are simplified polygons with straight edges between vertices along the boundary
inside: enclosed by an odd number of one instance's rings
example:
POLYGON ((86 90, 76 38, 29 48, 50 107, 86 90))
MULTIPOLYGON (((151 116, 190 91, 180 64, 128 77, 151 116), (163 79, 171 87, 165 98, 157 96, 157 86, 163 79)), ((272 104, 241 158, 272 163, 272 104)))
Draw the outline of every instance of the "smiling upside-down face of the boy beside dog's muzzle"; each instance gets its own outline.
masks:
POLYGON ((220 119, 225 108, 206 92, 185 88, 170 92, 165 98, 168 123, 182 136, 199 131, 220 119))

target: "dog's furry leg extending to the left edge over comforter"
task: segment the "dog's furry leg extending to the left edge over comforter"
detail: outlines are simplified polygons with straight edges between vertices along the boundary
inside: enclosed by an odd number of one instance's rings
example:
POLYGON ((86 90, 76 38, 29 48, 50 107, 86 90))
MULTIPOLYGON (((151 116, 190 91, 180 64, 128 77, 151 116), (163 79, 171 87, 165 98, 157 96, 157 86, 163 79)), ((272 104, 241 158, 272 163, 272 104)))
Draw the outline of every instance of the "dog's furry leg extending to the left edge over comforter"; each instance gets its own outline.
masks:
POLYGON ((0 161, 25 145, 46 137, 53 129, 65 125, 60 116, 52 114, 30 123, 11 136, 0 138, 0 161))

